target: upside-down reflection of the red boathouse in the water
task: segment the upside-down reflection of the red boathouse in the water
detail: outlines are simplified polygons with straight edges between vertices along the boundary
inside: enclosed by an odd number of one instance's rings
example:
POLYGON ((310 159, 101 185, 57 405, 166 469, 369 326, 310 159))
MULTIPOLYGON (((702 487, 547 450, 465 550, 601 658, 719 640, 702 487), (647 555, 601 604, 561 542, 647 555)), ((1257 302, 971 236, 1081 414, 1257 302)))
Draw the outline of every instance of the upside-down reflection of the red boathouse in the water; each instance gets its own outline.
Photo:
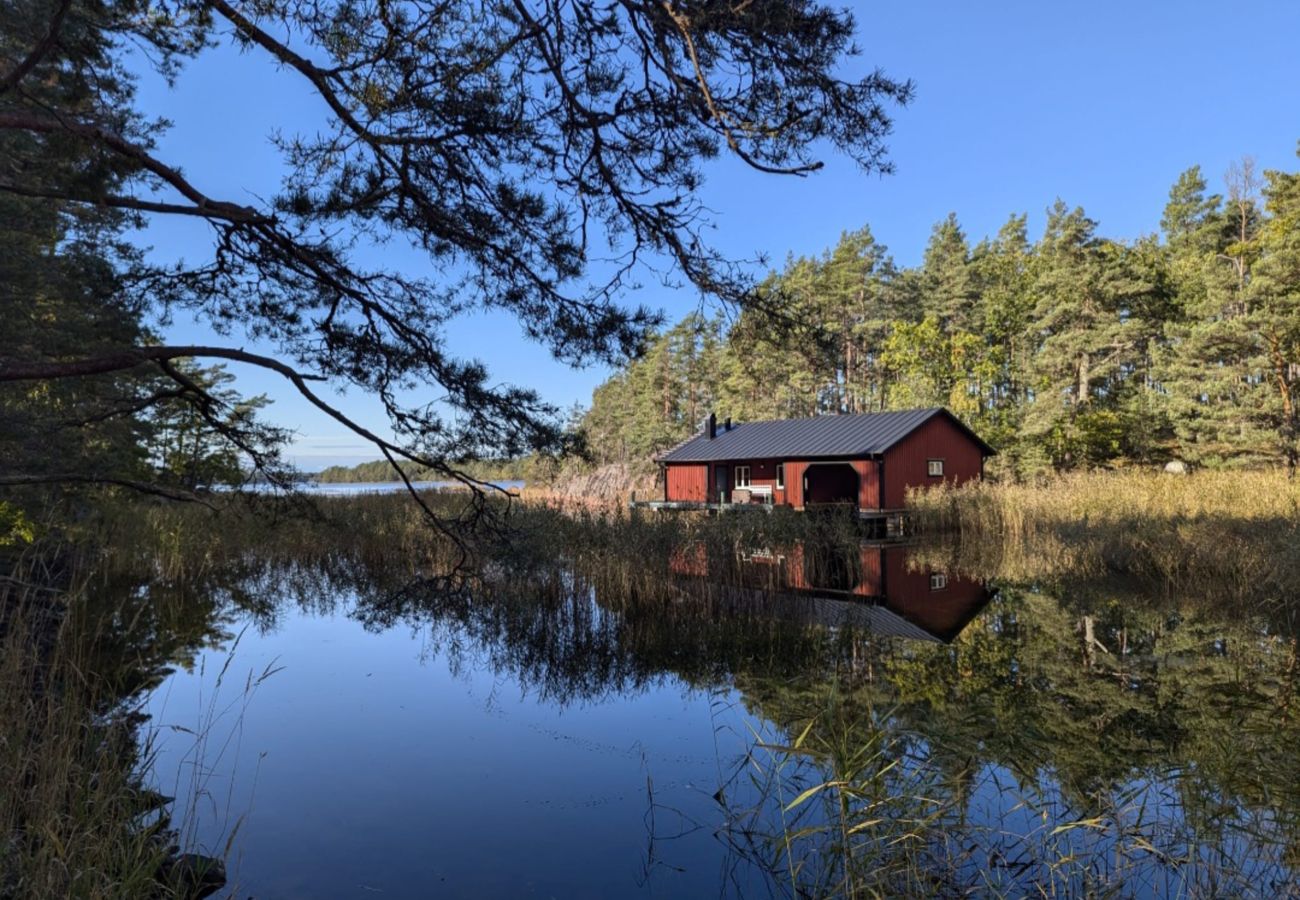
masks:
POLYGON ((801 622, 946 644, 979 614, 989 590, 982 581, 916 567, 911 553, 897 544, 797 544, 715 553, 711 559, 708 548, 693 544, 673 554, 671 568, 731 588, 746 607, 760 605, 801 622))

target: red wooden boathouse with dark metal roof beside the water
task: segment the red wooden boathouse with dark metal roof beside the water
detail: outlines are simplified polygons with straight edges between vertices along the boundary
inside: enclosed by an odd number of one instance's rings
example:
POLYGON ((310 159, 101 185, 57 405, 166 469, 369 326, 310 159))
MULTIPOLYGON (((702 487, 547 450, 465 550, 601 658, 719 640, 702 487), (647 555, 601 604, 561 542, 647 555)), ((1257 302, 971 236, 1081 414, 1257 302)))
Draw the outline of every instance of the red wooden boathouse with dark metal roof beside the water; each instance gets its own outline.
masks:
POLYGON ((948 410, 779 419, 703 429, 659 457, 670 505, 902 509, 909 488, 965 484, 994 453, 948 410))

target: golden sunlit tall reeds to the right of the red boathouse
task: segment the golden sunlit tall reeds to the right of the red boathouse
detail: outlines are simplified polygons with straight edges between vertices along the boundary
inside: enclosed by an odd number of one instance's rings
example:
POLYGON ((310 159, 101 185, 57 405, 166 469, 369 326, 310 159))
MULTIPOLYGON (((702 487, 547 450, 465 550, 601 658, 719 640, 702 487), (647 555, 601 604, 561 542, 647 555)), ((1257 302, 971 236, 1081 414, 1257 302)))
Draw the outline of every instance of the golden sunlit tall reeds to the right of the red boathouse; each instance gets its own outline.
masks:
POLYGON ((961 567, 1034 580, 1124 572, 1178 590, 1300 585, 1300 481, 1280 471, 1096 472, 910 496, 923 536, 959 542, 961 567))

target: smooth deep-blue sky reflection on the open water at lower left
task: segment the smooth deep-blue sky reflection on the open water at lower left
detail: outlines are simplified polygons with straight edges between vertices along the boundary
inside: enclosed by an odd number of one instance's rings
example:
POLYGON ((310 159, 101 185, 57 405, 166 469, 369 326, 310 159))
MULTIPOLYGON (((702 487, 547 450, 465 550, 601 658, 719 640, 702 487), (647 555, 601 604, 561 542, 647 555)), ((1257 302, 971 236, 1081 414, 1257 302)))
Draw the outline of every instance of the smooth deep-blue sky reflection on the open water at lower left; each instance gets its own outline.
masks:
MULTIPOLYGON (((199 728, 203 710, 222 710, 196 836, 220 849, 247 814, 233 896, 716 893, 710 828, 656 844, 667 865, 645 875, 647 776, 660 836, 681 831, 671 809, 719 818, 714 697, 666 678, 559 709, 485 666, 452 675, 425 649, 408 628, 369 633, 342 614, 286 611, 274 633, 250 628, 233 657, 208 652, 203 674, 157 692, 155 773, 178 814, 192 739, 165 726, 199 728), (272 666, 283 668, 244 702, 246 680, 272 666)), ((728 758, 736 731, 719 732, 728 758)))

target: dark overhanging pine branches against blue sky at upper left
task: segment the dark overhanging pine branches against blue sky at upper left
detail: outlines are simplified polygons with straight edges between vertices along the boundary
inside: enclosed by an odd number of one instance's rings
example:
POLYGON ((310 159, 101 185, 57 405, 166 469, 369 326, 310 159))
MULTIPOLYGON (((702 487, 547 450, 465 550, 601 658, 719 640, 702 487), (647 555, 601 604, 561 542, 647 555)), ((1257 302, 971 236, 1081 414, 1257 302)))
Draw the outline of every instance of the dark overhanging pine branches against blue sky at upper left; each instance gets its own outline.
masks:
MULTIPOLYGON (((0 137, 20 161, 3 173, 0 200, 118 230, 140 216, 205 220, 211 260, 155 265, 126 252, 117 287, 138 308, 243 328, 287 362, 231 347, 124 346, 140 343, 126 337, 74 359, 0 360, 0 381, 153 365, 217 427, 203 386, 185 384, 172 362, 257 365, 374 445, 412 492, 403 463, 469 486, 473 516, 489 486, 458 460, 547 453, 564 440, 559 411, 534 391, 494 385, 481 363, 448 351, 452 317, 506 310, 558 359, 581 364, 638 352, 660 323, 625 302, 638 272, 677 273, 703 295, 758 306, 746 264, 703 233, 702 160, 727 152, 802 174, 826 142, 863 169, 884 168, 883 103, 905 103, 911 90, 879 73, 838 78, 857 52, 853 18, 818 0, 689 10, 616 0, 601 12, 567 0, 209 0, 164 4, 157 16, 133 4, 65 16, 70 0, 60 0, 48 33, 64 36, 43 40, 49 0, 18 1, 31 4, 27 43, 38 47, 4 77, 17 90, 0 91, 0 137), (186 160, 165 159, 161 126, 133 109, 122 78, 134 65, 125 47, 172 78, 181 59, 222 38, 217 30, 268 53, 322 101, 320 127, 276 135, 287 174, 254 205, 213 196, 186 160), (421 274, 358 264, 360 247, 389 242, 426 254, 421 274), (317 395, 312 382, 325 380, 378 397, 400 438, 317 395), (436 399, 403 404, 421 388, 436 399)), ((247 453, 239 424, 228 437, 247 453)))

